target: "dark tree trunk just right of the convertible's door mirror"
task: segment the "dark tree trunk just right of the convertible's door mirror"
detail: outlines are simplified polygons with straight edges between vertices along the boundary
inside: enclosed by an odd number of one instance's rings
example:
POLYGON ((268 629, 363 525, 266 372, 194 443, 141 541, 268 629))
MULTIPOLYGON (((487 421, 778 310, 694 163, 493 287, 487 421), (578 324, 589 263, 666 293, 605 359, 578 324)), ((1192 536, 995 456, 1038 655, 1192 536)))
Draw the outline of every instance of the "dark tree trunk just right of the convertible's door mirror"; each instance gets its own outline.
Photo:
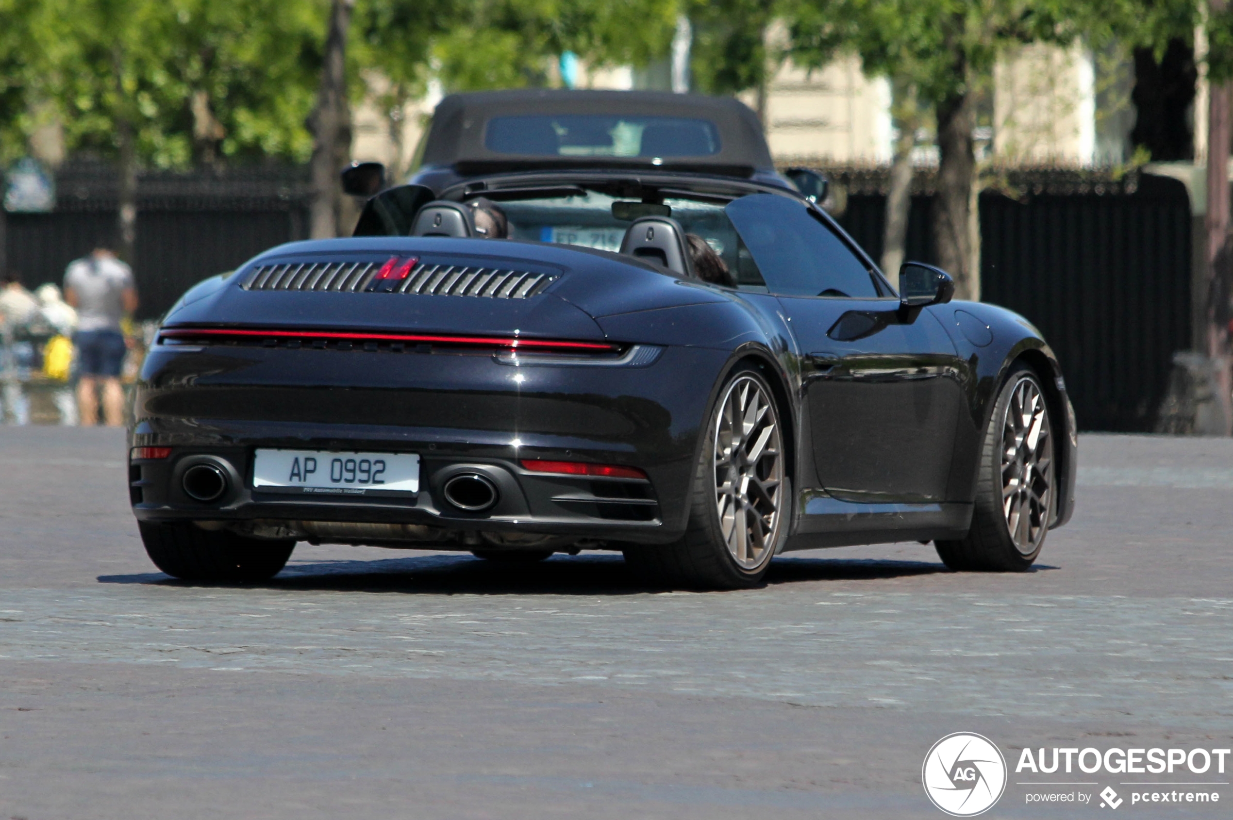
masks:
MULTIPOLYGON (((958 70, 967 73, 967 63, 958 60, 958 70)), ((933 243, 937 264, 954 277, 954 295, 970 298, 975 293, 970 270, 972 242, 972 181, 977 158, 972 144, 973 104, 967 89, 937 104, 937 144, 942 154, 937 169, 937 196, 933 199, 933 243)))

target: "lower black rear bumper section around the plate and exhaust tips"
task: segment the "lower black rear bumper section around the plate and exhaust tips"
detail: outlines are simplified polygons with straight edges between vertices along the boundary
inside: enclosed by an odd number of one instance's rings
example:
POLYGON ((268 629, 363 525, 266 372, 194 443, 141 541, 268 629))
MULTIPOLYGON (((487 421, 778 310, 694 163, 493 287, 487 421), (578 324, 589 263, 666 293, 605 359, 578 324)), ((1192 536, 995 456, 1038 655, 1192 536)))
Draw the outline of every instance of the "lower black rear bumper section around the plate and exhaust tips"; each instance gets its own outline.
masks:
MULTIPOLYGON (((300 445, 303 446, 303 445, 300 445)), ((387 450, 370 443, 354 449, 387 450)), ((515 457, 483 457, 450 453, 432 445, 399 448, 420 453, 420 490, 397 497, 305 494, 252 486, 254 446, 176 446, 165 459, 129 461, 133 512, 144 522, 223 522, 245 524, 249 534, 292 536, 309 541, 446 543, 461 533, 539 533, 591 539, 665 541, 679 533, 663 525, 653 481, 531 472, 515 457), (215 501, 201 502, 184 488, 184 475, 195 465, 211 465, 226 476, 226 490, 215 501), (469 512, 451 506, 444 485, 459 475, 478 475, 491 483, 491 508, 469 512), (319 523, 409 525, 406 531, 374 528, 327 528, 319 523), (282 531, 277 531, 281 527, 282 531), (424 531, 430 528, 433 531, 424 531)), ((589 454, 594 455, 594 454, 589 454)), ((628 455, 628 454, 626 454, 628 455)), ((655 471, 668 482, 672 466, 655 471)))

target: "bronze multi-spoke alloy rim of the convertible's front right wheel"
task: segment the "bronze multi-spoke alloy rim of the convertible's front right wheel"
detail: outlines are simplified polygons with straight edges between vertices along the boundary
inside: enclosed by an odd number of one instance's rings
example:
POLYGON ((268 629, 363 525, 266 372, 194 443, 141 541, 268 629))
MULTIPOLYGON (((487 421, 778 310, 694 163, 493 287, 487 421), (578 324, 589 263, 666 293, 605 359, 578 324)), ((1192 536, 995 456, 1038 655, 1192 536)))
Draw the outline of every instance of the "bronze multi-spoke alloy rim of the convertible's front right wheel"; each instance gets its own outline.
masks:
POLYGON ((1015 547, 1033 555, 1044 540, 1053 510, 1053 429, 1034 379, 1011 388, 1002 424, 1002 513, 1015 547))

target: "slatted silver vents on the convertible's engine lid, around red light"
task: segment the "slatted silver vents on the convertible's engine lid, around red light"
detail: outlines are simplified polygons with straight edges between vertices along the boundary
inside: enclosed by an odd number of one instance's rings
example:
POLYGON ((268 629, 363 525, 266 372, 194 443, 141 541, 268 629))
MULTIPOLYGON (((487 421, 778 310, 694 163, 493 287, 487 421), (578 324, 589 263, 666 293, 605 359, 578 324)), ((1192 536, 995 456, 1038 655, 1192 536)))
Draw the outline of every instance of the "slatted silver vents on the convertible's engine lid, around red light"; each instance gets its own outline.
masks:
POLYGON ((392 286, 375 287, 382 263, 332 261, 286 263, 253 269, 240 287, 248 291, 332 291, 338 293, 382 292, 419 296, 480 296, 530 298, 559 276, 502 268, 417 264, 411 274, 392 286))

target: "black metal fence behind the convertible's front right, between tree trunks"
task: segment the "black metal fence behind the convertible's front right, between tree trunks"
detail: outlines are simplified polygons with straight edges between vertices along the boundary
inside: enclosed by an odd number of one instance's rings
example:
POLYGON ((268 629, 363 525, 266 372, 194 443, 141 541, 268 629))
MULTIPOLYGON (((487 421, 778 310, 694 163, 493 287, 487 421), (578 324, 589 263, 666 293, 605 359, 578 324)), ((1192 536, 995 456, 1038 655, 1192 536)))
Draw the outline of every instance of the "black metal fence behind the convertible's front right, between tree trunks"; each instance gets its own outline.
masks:
MULTIPOLYGON (((1139 176, 1020 196, 980 196, 981 300, 1025 316, 1057 351, 1079 425, 1150 432, 1173 354, 1191 345, 1191 213, 1185 186, 1139 176)), ((906 256, 935 258, 931 195, 912 197, 906 256)), ((877 259, 878 192, 848 196, 840 222, 877 259)))

